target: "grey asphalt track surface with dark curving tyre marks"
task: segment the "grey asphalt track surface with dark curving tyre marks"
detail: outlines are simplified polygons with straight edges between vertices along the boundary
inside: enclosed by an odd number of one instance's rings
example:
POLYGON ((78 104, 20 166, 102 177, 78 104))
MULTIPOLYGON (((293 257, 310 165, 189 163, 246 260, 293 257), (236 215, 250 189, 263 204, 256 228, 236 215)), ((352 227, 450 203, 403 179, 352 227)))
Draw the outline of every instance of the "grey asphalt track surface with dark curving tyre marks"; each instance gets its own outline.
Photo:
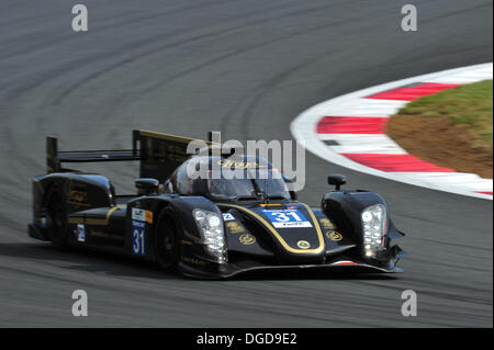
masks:
MULTIPOLYGON (((0 326, 492 327, 492 201, 350 171, 307 154, 301 200, 326 176, 386 200, 411 252, 393 278, 263 275, 194 281, 101 253, 63 253, 26 235, 31 178, 45 135, 61 149, 128 148, 131 129, 291 139, 290 122, 323 100, 409 76, 492 61, 492 2, 96 1, 89 32, 70 1, 2 0, 0 10, 0 326), (403 4, 406 2, 403 2, 403 4), (71 293, 89 316, 71 315, 71 293), (403 317, 401 293, 418 295, 403 317)), ((105 168, 117 192, 136 167, 105 168)))

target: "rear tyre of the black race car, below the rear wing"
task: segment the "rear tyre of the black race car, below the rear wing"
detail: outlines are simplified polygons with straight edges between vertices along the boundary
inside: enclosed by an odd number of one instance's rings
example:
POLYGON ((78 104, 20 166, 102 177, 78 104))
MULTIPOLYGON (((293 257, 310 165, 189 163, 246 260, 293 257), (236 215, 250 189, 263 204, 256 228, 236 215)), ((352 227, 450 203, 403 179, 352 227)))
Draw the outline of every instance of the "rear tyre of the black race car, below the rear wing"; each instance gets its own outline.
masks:
POLYGON ((56 191, 48 195, 47 214, 47 230, 52 245, 59 249, 67 248, 67 208, 61 195, 56 191))

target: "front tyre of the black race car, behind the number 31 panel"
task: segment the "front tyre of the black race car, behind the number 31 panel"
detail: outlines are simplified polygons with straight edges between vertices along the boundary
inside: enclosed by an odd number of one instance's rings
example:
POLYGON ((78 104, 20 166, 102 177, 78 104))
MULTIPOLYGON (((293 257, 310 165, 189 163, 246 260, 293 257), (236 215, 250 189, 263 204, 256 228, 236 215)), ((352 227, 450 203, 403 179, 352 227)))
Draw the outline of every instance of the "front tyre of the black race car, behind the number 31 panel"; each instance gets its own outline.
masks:
POLYGON ((155 232, 156 260, 167 272, 176 272, 179 260, 180 226, 171 208, 159 213, 155 232))

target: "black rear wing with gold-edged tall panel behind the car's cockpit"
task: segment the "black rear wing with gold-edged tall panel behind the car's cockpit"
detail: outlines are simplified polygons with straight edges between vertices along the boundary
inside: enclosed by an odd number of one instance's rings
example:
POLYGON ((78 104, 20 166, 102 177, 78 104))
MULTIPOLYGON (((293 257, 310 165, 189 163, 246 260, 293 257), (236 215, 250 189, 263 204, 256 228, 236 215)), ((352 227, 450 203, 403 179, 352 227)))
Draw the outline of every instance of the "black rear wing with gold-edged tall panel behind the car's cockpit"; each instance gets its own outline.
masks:
MULTIPOLYGON (((165 181, 187 158, 187 146, 194 138, 148 131, 132 133, 132 149, 59 151, 56 137, 46 137, 46 170, 74 171, 63 168, 64 162, 141 161, 139 177, 165 181)), ((209 138, 211 138, 211 133, 209 138)), ((211 142, 205 142, 211 145, 211 142)))

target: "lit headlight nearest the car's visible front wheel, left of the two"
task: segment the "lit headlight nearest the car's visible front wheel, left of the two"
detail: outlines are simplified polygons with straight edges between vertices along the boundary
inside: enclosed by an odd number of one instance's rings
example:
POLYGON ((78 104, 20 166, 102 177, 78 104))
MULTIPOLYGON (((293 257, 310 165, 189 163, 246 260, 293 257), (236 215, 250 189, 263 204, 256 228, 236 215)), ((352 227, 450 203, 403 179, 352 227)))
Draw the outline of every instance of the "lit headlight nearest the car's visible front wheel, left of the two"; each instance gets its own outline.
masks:
POLYGON ((223 218, 216 213, 203 210, 194 210, 192 214, 207 252, 216 257, 220 263, 226 262, 223 218))

